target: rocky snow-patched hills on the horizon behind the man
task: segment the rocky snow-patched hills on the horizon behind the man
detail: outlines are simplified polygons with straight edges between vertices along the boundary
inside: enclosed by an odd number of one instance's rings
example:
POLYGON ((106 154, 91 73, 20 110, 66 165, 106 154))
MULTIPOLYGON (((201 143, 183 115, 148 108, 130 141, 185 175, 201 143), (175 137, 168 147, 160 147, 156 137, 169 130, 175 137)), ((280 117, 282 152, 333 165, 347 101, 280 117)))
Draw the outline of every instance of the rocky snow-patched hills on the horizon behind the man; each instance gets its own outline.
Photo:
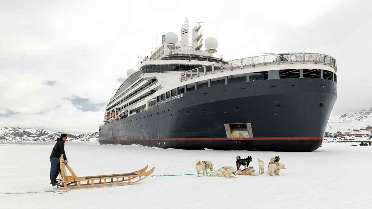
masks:
MULTIPOLYGON (((0 128, 0 142, 55 142, 61 133, 44 129, 4 127, 0 128)), ((90 134, 67 134, 67 140, 98 141, 98 132, 90 134)))

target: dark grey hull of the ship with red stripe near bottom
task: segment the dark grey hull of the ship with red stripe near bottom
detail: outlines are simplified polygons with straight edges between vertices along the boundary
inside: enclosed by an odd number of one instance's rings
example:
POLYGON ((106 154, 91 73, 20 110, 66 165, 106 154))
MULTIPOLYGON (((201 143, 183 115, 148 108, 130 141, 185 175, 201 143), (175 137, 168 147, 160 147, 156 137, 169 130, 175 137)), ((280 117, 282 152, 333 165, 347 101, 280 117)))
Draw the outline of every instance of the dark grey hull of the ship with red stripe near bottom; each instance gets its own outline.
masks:
POLYGON ((322 78, 229 80, 107 123, 100 127, 99 142, 179 149, 314 151, 323 142, 336 87, 334 81, 322 78), (249 123, 252 136, 228 136, 227 125, 237 123, 249 123))

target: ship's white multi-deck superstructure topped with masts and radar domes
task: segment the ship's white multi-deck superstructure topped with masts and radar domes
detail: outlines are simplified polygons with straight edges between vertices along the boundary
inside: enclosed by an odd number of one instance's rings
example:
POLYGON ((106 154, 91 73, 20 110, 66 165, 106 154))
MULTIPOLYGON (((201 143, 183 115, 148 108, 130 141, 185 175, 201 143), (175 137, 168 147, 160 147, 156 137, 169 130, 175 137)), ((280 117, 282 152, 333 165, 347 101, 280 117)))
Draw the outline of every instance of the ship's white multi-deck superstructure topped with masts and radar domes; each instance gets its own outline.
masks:
POLYGON ((159 96, 163 99, 163 94, 168 98, 167 92, 172 94, 171 89, 179 85, 181 72, 222 62, 222 56, 214 54, 217 52, 217 39, 211 37, 214 49, 202 50, 200 29, 200 23, 192 29, 191 45, 187 19, 181 28, 180 41, 176 33, 166 33, 163 43, 151 52, 150 57, 141 60, 138 70, 128 70, 128 77, 106 107, 104 122, 115 120, 123 113, 127 117, 152 108, 159 96))

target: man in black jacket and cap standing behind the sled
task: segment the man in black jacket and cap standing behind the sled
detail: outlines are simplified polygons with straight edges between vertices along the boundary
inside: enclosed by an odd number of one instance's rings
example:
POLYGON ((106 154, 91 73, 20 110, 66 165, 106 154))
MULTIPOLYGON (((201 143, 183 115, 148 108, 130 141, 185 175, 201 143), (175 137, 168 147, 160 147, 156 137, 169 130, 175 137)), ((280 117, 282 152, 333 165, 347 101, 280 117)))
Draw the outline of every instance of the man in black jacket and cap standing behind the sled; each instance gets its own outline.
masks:
POLYGON ((65 142, 67 140, 67 134, 61 134, 60 138, 57 138, 57 143, 55 143, 52 153, 50 154, 50 184, 55 186, 58 184, 57 177, 60 173, 60 157, 63 154, 64 163, 67 163, 67 157, 65 153, 65 142))

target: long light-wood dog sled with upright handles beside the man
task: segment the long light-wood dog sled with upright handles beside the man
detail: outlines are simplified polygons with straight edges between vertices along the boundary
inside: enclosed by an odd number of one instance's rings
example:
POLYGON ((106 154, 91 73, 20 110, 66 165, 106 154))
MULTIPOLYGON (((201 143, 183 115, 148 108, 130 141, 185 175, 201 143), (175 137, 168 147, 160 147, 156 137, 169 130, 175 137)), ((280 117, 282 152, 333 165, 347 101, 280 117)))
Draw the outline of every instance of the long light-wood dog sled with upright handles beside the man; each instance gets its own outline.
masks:
POLYGON ((155 167, 146 171, 147 167, 148 165, 141 170, 133 171, 131 173, 78 177, 70 165, 64 163, 62 154, 60 157, 60 172, 62 179, 57 179, 57 181, 61 189, 122 186, 137 183, 138 181, 142 181, 146 177, 150 176, 154 172, 155 167), (70 171, 70 176, 67 175, 66 168, 70 171))

